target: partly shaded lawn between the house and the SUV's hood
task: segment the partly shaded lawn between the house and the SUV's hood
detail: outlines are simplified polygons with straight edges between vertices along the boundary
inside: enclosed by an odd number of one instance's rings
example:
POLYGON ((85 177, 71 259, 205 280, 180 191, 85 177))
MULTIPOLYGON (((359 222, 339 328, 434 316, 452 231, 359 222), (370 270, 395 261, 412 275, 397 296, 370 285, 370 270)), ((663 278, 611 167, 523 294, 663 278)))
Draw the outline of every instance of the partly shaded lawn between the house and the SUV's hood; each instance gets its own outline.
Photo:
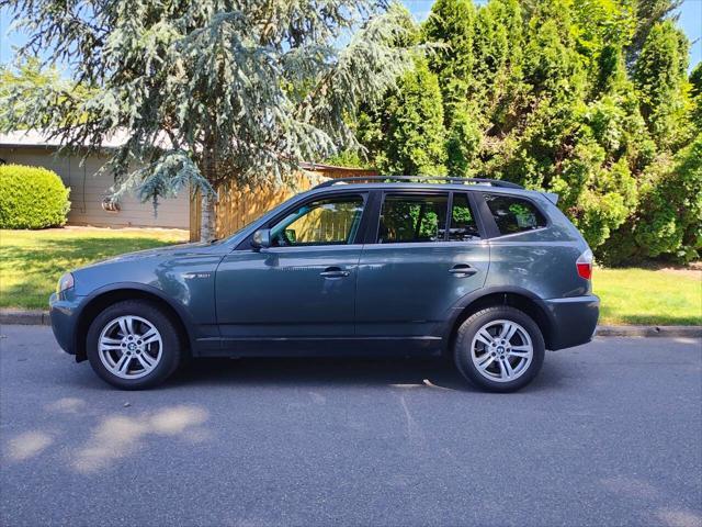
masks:
POLYGON ((186 237, 184 231, 158 228, 0 231, 0 307, 48 309, 48 295, 64 272, 186 237))

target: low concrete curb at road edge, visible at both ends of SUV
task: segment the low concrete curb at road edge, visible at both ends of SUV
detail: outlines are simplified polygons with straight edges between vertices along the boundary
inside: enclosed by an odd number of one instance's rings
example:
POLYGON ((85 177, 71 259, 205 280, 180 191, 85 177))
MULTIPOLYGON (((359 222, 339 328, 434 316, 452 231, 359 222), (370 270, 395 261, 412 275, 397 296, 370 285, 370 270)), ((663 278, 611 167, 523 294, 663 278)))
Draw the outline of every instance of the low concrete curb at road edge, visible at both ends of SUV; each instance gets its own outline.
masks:
MULTIPOLYGON (((48 326, 48 311, 0 310, 0 324, 48 326)), ((597 326, 598 337, 702 337, 702 326, 597 326)))

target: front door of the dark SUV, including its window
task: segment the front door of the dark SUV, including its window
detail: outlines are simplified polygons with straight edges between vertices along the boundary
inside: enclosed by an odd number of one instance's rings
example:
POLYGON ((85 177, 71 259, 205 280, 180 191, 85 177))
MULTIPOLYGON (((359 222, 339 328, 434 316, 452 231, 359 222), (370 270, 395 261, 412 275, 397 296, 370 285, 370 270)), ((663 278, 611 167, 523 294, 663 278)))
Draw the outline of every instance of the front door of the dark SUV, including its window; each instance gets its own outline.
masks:
POLYGON ((272 246, 234 250, 217 269, 223 339, 281 343, 353 335, 355 244, 366 195, 316 199, 271 225, 272 246))

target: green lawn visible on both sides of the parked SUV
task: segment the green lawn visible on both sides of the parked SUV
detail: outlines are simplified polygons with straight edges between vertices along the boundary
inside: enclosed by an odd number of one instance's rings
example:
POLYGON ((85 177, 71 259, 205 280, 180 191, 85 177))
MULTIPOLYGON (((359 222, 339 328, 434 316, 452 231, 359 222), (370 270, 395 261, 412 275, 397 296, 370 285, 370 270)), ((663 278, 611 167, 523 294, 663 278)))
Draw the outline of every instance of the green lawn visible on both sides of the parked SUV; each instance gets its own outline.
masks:
MULTIPOLYGON (((66 270, 185 237, 148 228, 0 231, 0 307, 46 309, 66 270)), ((593 285, 602 324, 702 325, 702 271, 597 268, 593 285)))

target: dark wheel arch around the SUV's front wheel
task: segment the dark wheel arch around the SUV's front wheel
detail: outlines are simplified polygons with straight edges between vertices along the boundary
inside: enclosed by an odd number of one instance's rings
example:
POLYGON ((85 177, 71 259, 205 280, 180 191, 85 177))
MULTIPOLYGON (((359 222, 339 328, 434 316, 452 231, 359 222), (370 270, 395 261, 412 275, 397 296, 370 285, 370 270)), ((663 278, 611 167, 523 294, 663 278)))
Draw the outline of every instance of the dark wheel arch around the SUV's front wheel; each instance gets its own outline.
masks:
POLYGON ((112 284, 93 292, 84 302, 76 323, 76 361, 87 359, 87 337, 90 325, 95 317, 107 306, 123 300, 146 300, 158 305, 171 318, 180 338, 189 354, 193 348, 193 335, 190 330, 188 315, 182 309, 177 307, 156 288, 145 287, 138 283, 112 284))

